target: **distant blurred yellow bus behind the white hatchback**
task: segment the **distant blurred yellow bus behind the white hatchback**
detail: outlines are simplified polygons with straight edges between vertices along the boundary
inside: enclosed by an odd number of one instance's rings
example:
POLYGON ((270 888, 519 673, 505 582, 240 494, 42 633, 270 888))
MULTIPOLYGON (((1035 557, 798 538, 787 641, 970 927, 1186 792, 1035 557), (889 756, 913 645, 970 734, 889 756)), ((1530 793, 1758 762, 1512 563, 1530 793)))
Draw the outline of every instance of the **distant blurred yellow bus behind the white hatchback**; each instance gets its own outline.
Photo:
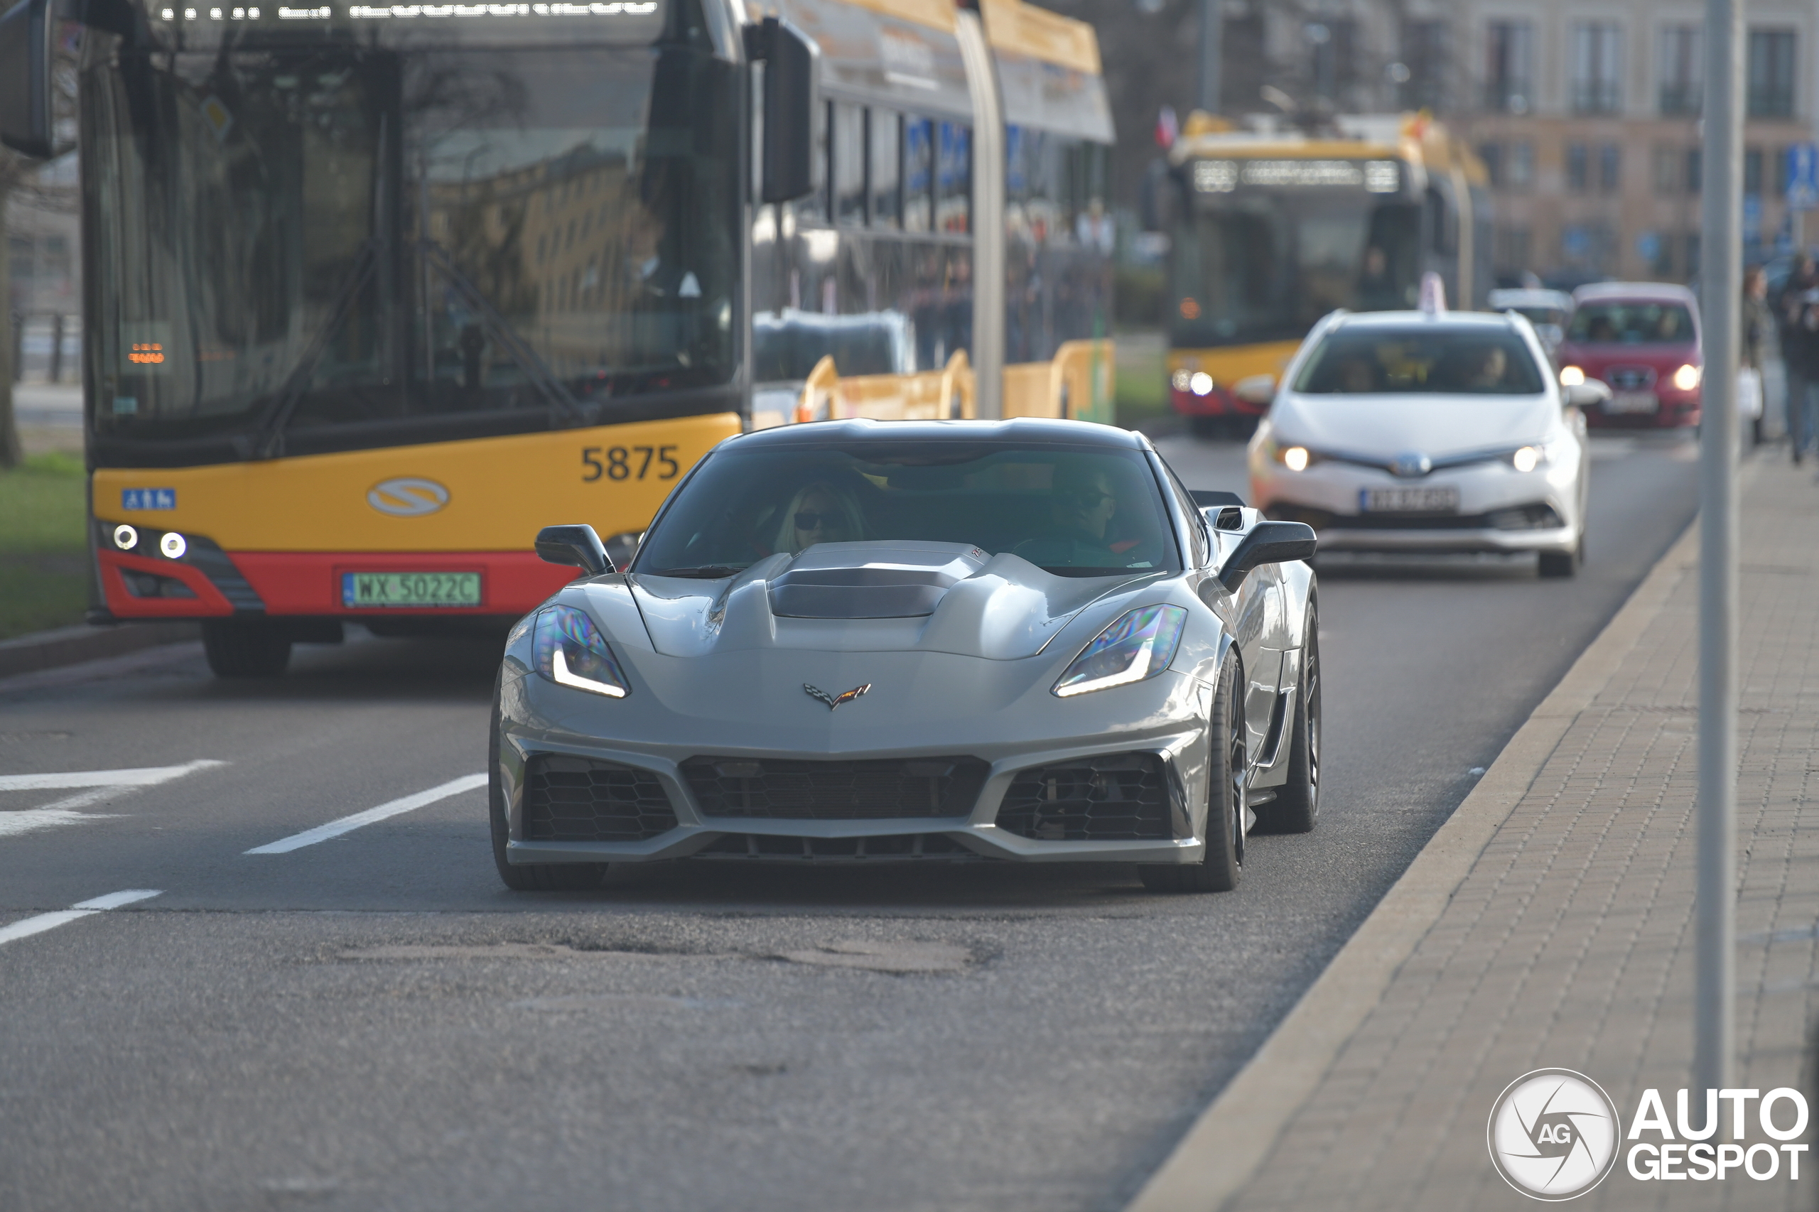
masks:
POLYGON ((1492 288, 1484 166, 1426 115, 1308 133, 1197 113, 1168 167, 1170 402, 1202 433, 1255 426, 1322 315, 1413 308, 1428 271, 1459 308, 1492 288))

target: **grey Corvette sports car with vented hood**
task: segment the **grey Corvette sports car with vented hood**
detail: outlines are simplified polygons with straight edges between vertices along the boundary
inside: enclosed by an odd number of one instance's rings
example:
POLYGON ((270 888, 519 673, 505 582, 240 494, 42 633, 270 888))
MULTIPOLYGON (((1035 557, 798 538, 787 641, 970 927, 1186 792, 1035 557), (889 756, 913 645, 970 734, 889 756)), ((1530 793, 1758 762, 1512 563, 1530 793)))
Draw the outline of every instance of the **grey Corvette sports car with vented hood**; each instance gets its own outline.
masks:
POLYGON ((508 641, 493 857, 1137 863, 1233 888, 1319 810, 1313 531, 1193 493, 1137 433, 842 420, 722 442, 626 571, 508 641))

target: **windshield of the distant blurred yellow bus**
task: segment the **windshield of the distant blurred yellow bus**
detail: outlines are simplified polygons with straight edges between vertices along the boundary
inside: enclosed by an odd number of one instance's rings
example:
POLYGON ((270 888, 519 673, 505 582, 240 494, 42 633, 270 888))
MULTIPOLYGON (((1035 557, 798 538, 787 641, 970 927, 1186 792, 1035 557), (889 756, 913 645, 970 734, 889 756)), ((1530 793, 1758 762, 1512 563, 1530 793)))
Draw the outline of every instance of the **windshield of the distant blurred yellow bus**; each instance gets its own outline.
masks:
POLYGON ((1202 198, 1177 229, 1175 346, 1299 340, 1335 308, 1412 308, 1421 209, 1352 191, 1202 198))

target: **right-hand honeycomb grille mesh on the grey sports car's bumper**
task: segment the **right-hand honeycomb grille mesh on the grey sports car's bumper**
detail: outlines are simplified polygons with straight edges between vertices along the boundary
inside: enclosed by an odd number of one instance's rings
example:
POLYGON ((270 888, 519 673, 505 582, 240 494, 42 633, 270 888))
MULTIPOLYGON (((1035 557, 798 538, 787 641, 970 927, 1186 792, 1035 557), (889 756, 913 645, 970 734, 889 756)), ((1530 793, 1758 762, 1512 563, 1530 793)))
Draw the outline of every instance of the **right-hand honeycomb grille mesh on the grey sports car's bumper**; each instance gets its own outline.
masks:
POLYGON ((1035 841, 1171 837, 1162 759, 1115 753, 1024 770, 999 804, 999 828, 1035 841))

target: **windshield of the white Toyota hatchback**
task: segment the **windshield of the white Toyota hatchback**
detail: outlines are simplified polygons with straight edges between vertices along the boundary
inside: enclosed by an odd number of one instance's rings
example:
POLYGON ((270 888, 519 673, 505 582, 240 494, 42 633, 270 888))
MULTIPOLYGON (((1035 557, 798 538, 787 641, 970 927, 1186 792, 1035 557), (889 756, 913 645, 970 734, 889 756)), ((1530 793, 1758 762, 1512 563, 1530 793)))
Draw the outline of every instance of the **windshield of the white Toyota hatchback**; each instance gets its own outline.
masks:
POLYGON ((1341 328, 1295 377, 1310 395, 1535 395, 1541 368, 1510 331, 1462 328, 1341 328))

